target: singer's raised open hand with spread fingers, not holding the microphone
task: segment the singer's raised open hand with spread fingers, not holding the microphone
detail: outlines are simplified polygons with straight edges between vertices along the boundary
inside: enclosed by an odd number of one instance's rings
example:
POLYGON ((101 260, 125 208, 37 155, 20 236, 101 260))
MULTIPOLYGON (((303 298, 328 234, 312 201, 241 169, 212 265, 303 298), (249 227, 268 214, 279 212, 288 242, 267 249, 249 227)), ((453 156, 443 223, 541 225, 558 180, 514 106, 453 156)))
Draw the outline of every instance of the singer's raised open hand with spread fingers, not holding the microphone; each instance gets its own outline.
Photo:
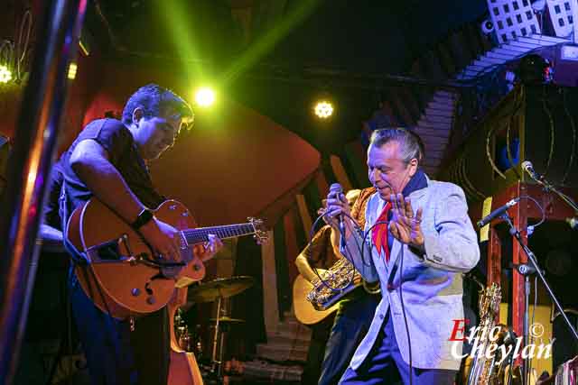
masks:
POLYGON ((414 215, 409 197, 402 194, 391 194, 391 209, 393 216, 389 221, 389 231, 401 243, 415 246, 419 249, 424 247, 424 233, 422 233, 422 214, 420 207, 414 215))

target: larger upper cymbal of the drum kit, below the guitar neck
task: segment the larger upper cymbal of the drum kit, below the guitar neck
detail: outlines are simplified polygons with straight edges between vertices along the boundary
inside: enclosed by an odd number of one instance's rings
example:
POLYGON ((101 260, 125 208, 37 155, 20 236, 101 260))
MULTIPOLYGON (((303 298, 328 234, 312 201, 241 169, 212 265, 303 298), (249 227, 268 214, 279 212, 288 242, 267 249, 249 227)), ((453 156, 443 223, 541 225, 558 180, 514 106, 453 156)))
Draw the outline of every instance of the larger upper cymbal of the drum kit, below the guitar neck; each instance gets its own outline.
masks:
POLYGON ((238 295, 253 286, 253 277, 238 276, 231 278, 218 278, 202 283, 199 286, 189 288, 188 302, 214 302, 219 297, 229 298, 238 295))

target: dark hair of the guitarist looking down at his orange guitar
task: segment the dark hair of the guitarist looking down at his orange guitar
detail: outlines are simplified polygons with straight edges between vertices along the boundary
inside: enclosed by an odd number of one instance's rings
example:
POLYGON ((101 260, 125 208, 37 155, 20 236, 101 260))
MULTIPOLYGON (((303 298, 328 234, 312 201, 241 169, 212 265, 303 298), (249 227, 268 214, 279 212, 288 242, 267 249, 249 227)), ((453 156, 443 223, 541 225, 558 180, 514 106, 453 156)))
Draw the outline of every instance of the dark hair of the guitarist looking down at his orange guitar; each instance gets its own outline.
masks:
POLYGON ((123 110, 122 121, 124 124, 133 123, 133 113, 139 107, 143 109, 144 116, 147 118, 158 116, 167 109, 176 111, 183 121, 190 123, 194 118, 191 105, 185 102, 181 96, 156 84, 140 87, 128 98, 123 110))

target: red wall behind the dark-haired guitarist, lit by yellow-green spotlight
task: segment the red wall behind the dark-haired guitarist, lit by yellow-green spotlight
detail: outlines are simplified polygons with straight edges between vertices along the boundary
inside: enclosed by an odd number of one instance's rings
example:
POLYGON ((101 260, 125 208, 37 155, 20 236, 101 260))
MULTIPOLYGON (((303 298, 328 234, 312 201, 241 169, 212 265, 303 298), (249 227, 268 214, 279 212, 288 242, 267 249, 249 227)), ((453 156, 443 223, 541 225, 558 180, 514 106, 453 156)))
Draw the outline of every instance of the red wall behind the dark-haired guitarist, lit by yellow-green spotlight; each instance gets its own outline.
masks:
MULTIPOLYGON (((127 97, 149 82, 185 97, 191 94, 192 85, 180 82, 170 71, 119 65, 94 56, 79 58, 77 78, 69 87, 59 152, 84 124, 107 111, 121 112, 127 97)), ((0 133, 13 139, 22 90, 0 92, 4 102, 0 133)), ((221 98, 216 110, 196 109, 194 128, 182 133, 151 170, 159 190, 190 207, 200 225, 221 225, 263 211, 319 163, 319 152, 308 142, 266 116, 221 98)))

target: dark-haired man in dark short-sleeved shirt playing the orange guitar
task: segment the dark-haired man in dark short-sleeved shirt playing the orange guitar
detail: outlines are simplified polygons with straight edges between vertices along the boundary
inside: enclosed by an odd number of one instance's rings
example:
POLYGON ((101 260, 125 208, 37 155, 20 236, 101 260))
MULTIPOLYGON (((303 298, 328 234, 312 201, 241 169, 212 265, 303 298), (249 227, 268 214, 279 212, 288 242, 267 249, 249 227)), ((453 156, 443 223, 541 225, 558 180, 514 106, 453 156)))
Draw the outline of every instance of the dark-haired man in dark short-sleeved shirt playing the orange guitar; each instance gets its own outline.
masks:
MULTIPOLYGON (((154 189, 147 165, 172 146, 182 125, 192 118, 191 107, 180 96, 150 84, 130 96, 122 121, 89 123, 59 160, 62 228, 66 230, 76 207, 97 197, 140 233, 159 258, 177 261, 177 230, 149 210, 164 198, 154 189)), ((216 236, 209 238, 200 252, 201 261, 222 248, 216 236)), ((67 240, 65 246, 72 260, 81 263, 74 246, 67 240)), ((93 304, 74 272, 70 273, 70 301, 92 384, 167 382, 170 336, 165 308, 135 321, 117 320, 93 304)))

